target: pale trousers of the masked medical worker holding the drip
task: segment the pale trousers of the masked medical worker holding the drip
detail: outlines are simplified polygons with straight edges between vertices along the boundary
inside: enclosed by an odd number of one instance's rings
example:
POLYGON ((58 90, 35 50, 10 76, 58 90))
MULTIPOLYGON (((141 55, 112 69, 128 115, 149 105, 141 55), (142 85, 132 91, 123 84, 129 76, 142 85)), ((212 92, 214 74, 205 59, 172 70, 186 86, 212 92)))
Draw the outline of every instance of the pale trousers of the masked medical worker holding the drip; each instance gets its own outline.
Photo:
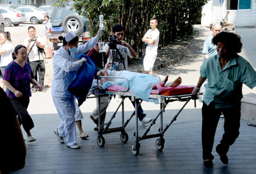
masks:
POLYGON ((52 96, 52 100, 61 118, 60 126, 58 127, 59 135, 66 137, 69 146, 76 145, 76 106, 74 98, 52 96))

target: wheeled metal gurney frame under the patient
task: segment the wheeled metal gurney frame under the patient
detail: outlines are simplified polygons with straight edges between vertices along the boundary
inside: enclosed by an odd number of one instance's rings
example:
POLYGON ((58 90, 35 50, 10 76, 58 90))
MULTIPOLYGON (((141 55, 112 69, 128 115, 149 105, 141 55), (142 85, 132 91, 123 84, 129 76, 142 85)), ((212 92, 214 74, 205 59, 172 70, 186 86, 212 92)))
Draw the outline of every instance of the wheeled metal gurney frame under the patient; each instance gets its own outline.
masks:
MULTIPOLYGON (((105 76, 101 76, 99 78, 121 78, 121 77, 105 77, 105 76)), ((125 80, 127 80, 127 78, 124 78, 125 80)), ((149 138, 155 138, 155 137, 159 137, 158 139, 156 139, 156 148, 158 150, 163 150, 164 148, 164 132, 167 131, 168 127, 171 126, 171 124, 176 121, 176 118, 178 117, 178 115, 181 113, 181 111, 184 109, 184 107, 187 105, 187 103, 190 100, 194 100, 195 101, 195 107, 196 107, 196 100, 198 99, 198 95, 197 96, 193 96, 191 94, 191 92, 189 94, 181 94, 181 95, 176 95, 176 96, 163 96, 161 94, 150 94, 150 98, 153 99, 158 99, 159 103, 160 103, 160 111, 158 113, 158 115, 156 115, 156 117, 153 119, 153 121, 151 122, 150 126, 148 127, 148 129, 142 134, 142 136, 139 136, 138 133, 138 106, 141 105, 142 100, 138 97, 136 97, 133 93, 129 92, 129 80, 128 81, 128 88, 124 89, 124 90, 120 90, 120 91, 113 91, 113 90, 103 90, 101 89, 100 85, 98 84, 98 89, 94 90, 94 95, 96 97, 98 97, 98 113, 100 113, 100 98, 103 96, 109 96, 109 95, 113 95, 113 96, 118 96, 119 98, 122 98, 121 103, 118 105, 117 110, 115 110, 114 114, 112 115, 110 121, 108 122, 108 125, 106 125, 106 127, 101 130, 98 129, 98 137, 97 137, 97 143, 98 146, 103 147, 105 145, 105 139, 103 137, 103 134, 108 134, 110 132, 118 132, 121 131, 121 135, 120 135, 120 139, 123 143, 126 143, 129 140, 129 136, 125 131, 125 127, 127 126, 127 124, 130 122, 131 118, 135 115, 135 132, 134 132, 134 136, 135 136, 135 143, 133 144, 133 146, 131 147, 131 151, 133 152, 134 155, 138 155, 139 154, 139 148, 140 148, 140 144, 139 141, 143 140, 143 139, 149 139, 149 138), (125 122, 124 119, 124 100, 127 97, 131 97, 132 101, 139 101, 139 104, 137 104, 137 102, 135 102, 135 110, 133 112, 133 114, 131 114, 130 118, 127 119, 127 121, 125 122), (166 109, 166 106, 168 105, 168 103, 170 102, 174 102, 174 101, 180 101, 180 102, 185 102, 184 105, 181 107, 181 109, 177 112, 177 114, 175 115, 175 117, 172 119, 172 121, 163 129, 163 112, 166 109), (115 114, 117 114, 117 111, 119 109, 119 107, 122 106, 122 126, 120 127, 114 127, 114 128, 110 128, 110 124, 112 122, 112 120, 115 118, 115 114), (159 133, 157 134, 150 134, 147 135, 148 132, 150 131, 150 128, 155 124, 156 119, 158 119, 160 117, 160 128, 159 128, 159 133)), ((101 127, 101 121, 100 121, 100 117, 98 119, 98 127, 101 127)))

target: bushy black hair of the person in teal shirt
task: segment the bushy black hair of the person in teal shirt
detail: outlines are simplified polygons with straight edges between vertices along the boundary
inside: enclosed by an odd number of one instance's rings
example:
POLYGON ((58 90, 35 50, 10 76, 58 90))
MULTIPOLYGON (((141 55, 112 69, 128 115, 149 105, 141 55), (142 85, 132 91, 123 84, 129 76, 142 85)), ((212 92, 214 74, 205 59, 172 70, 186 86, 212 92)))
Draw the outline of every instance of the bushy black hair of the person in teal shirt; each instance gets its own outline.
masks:
POLYGON ((212 39, 212 43, 217 45, 218 42, 224 43, 226 50, 229 51, 231 56, 237 55, 241 52, 242 42, 241 37, 233 32, 221 31, 212 39))

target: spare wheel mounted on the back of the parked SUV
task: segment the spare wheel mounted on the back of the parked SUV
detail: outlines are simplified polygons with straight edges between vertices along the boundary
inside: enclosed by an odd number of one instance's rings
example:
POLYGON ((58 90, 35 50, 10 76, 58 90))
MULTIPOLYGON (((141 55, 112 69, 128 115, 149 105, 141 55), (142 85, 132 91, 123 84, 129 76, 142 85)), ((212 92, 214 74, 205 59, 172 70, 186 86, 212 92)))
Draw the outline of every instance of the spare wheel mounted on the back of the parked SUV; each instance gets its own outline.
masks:
POLYGON ((84 29, 84 22, 79 15, 69 14, 64 18, 62 27, 65 33, 73 31, 77 36, 79 36, 82 34, 84 29))

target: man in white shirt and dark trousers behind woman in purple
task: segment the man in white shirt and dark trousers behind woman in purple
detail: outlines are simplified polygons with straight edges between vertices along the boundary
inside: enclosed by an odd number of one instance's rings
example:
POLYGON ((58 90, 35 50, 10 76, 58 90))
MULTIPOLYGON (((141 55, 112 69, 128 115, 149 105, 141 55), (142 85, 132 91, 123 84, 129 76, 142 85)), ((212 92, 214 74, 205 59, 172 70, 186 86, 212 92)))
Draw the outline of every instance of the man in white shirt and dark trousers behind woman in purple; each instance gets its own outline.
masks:
MULTIPOLYGON (((46 65, 43 59, 44 42, 42 38, 36 36, 35 27, 28 27, 28 38, 24 40, 24 45, 27 48, 28 61, 30 62, 35 80, 38 81, 40 85, 44 85, 44 73, 46 72, 46 65)), ((36 86, 32 86, 31 92, 36 92, 36 90, 36 86)), ((42 92, 46 92, 46 90, 43 89, 42 92)))

